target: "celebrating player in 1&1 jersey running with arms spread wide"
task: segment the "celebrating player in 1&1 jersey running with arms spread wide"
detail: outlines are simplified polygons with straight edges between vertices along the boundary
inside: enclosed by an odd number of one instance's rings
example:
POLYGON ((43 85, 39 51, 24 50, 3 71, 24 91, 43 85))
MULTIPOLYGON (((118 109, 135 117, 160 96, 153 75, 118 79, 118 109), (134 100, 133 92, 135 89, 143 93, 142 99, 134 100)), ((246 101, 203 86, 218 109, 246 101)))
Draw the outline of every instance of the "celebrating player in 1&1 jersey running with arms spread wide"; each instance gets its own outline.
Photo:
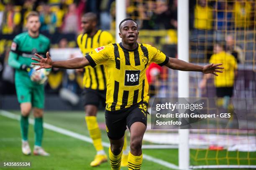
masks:
POLYGON ((107 105, 105 111, 106 131, 110 140, 109 157, 112 170, 120 170, 122 147, 126 125, 131 133, 128 169, 139 170, 142 164, 142 138, 146 131, 148 82, 146 67, 155 62, 160 66, 183 71, 203 73, 222 72, 221 64, 194 65, 176 58, 169 58, 163 52, 147 44, 138 44, 138 24, 126 18, 119 25, 122 42, 109 44, 92 50, 86 57, 65 61, 52 61, 35 54, 38 68, 60 67, 67 69, 95 67, 103 64, 107 71, 107 105))

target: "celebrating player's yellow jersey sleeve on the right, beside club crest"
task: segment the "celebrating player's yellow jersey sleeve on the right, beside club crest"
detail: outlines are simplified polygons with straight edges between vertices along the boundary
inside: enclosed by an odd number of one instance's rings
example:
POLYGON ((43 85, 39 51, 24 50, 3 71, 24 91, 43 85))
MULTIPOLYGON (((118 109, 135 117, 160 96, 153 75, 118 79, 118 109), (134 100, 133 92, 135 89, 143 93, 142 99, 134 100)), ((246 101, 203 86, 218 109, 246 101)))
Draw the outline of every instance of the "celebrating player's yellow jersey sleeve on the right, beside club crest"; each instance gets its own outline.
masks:
POLYGON ((148 52, 152 53, 151 62, 155 62, 156 64, 158 64, 160 66, 166 65, 167 62, 169 61, 169 57, 166 56, 160 50, 156 49, 155 47, 152 47, 152 46, 149 47, 149 51, 148 52))

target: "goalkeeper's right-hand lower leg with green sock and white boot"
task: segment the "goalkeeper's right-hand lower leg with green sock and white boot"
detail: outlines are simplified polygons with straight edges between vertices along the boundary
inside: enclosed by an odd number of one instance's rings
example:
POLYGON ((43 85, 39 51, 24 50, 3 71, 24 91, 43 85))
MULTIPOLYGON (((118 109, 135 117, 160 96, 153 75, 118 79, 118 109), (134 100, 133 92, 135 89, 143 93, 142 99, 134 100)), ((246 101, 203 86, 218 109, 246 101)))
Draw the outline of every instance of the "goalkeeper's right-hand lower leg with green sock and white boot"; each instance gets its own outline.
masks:
POLYGON ((33 108, 33 115, 34 115, 34 131, 35 131, 35 146, 34 146, 34 155, 41 155, 41 156, 49 156, 49 153, 42 148, 42 140, 43 140, 43 110, 34 107, 33 108))

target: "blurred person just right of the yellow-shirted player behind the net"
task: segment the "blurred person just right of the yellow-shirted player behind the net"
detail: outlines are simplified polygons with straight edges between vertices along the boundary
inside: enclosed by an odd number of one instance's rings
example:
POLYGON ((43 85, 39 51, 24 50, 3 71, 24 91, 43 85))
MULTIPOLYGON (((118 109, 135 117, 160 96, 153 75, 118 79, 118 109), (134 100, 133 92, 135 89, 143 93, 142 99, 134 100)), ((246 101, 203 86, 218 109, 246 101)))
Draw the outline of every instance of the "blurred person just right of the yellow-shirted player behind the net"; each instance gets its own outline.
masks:
POLYGON ((242 48, 235 44, 234 36, 233 35, 227 35, 226 38, 226 50, 231 55, 233 55, 236 58, 237 63, 244 64, 245 61, 245 55, 243 53, 242 48))

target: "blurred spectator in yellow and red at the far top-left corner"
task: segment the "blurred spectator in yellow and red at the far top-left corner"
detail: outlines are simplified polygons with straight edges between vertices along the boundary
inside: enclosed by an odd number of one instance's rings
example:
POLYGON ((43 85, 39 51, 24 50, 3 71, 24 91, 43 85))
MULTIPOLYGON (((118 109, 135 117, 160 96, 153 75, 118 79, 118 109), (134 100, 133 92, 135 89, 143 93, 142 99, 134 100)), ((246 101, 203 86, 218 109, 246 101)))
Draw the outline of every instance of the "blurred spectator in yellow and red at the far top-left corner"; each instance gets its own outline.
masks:
POLYGON ((19 11, 14 10, 14 6, 11 3, 8 3, 5 6, 5 11, 3 13, 2 21, 2 33, 3 34, 12 34, 20 32, 20 23, 21 16, 19 11))

